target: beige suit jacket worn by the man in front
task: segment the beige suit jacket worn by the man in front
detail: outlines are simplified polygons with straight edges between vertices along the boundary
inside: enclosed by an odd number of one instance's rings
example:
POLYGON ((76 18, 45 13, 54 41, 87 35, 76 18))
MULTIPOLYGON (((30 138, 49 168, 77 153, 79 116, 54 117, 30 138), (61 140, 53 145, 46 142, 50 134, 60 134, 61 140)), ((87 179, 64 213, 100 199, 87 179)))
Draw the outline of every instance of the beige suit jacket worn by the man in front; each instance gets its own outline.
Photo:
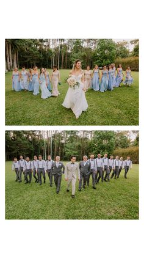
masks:
POLYGON ((78 178, 80 179, 80 172, 79 172, 79 164, 74 163, 73 165, 70 163, 66 164, 65 166, 65 178, 78 178))

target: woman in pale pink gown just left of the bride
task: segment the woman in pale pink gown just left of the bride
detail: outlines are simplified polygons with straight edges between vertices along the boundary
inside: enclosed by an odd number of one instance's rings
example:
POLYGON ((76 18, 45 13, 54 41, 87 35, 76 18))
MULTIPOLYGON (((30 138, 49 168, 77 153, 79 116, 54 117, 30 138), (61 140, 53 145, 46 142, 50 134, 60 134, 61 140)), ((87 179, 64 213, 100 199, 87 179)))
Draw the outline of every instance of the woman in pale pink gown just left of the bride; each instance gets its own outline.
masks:
POLYGON ((54 65, 53 71, 51 74, 51 82, 52 82, 52 96, 57 97, 60 92, 57 89, 58 83, 60 84, 60 73, 57 68, 57 65, 54 65))

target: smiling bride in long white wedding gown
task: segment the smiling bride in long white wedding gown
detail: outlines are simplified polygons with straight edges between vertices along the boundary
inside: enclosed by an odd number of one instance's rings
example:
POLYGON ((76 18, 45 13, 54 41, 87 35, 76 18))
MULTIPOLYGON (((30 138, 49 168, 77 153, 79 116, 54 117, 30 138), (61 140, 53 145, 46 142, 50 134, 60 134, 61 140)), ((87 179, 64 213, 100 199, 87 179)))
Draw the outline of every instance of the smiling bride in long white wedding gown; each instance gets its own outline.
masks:
POLYGON ((76 119, 78 119, 82 114, 82 111, 86 111, 88 108, 87 100, 85 98, 84 75, 81 69, 81 60, 77 59, 74 62, 69 77, 74 78, 79 86, 69 86, 62 106, 71 108, 76 119))

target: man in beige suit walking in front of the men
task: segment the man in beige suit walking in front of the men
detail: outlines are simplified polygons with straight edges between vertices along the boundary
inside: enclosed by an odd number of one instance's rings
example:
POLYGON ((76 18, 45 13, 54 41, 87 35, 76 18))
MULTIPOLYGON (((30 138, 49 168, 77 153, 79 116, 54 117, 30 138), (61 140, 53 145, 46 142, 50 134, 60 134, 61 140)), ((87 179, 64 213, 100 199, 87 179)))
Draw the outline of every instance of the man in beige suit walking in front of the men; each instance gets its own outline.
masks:
POLYGON ((70 163, 65 166, 65 180, 67 181, 67 192, 70 191, 70 183, 72 185, 72 195, 74 198, 76 190, 76 176, 78 175, 78 180, 80 180, 79 164, 76 163, 76 156, 71 156, 70 163))

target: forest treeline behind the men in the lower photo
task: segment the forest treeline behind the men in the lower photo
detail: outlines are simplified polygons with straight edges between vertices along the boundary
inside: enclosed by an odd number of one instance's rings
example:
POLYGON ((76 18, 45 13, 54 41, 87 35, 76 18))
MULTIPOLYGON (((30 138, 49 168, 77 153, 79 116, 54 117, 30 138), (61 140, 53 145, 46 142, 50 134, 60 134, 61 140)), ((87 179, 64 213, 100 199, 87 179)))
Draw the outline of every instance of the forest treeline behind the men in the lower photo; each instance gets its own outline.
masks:
POLYGON ((12 160, 41 154, 43 159, 57 155, 68 161, 76 155, 77 161, 90 153, 108 156, 131 155, 133 163, 139 163, 139 132, 131 131, 5 131, 5 159, 12 160), (119 152, 119 153, 118 153, 119 152))

